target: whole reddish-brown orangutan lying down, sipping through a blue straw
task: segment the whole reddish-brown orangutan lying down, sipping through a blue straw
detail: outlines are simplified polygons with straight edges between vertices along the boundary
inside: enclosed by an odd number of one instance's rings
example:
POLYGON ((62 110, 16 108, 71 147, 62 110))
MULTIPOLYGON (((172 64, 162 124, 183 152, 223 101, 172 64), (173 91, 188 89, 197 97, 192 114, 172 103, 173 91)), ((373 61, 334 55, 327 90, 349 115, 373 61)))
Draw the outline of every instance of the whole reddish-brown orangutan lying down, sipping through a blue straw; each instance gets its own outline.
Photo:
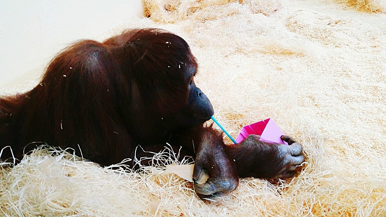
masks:
MULTIPOLYGON (((239 177, 294 175, 304 157, 290 137, 283 137, 289 146, 256 136, 226 146, 222 132, 203 126, 214 112, 195 85, 197 71, 186 41, 161 29, 77 42, 52 59, 33 90, 0 97, 0 148, 10 146, 21 159, 36 147, 31 142, 80 147, 84 158, 107 166, 151 157, 146 151, 158 153, 168 142, 181 158, 195 159, 195 180, 208 171, 207 183, 194 185, 201 198, 232 192, 239 177), (135 152, 139 144, 144 151, 135 152)), ((11 156, 5 149, 1 159, 11 156)))

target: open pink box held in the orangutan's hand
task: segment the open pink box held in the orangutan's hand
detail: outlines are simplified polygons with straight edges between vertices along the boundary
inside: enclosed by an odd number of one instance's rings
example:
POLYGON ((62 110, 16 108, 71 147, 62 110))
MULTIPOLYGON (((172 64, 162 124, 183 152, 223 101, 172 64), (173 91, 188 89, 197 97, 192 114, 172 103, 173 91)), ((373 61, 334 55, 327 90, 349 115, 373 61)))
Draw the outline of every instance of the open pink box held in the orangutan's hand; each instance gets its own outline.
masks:
POLYGON ((276 125, 275 122, 273 122, 273 120, 271 120, 270 118, 243 127, 240 131, 239 136, 237 136, 236 138, 236 142, 240 143, 246 137, 248 137, 249 134, 259 135, 260 141, 288 145, 287 142, 284 142, 280 138, 280 136, 285 134, 283 133, 283 131, 280 130, 278 125, 276 125))

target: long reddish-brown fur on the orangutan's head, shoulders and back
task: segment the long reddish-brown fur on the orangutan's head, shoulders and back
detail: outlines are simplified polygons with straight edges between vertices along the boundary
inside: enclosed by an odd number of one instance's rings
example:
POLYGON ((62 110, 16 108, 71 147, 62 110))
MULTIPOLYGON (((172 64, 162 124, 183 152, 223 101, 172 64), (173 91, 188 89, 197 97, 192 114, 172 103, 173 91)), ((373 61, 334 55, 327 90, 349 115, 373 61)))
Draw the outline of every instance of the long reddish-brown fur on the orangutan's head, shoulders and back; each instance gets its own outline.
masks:
POLYGON ((168 129, 156 132, 154 122, 186 101, 183 74, 168 68, 182 61, 195 62, 188 44, 159 29, 77 42, 51 61, 33 90, 0 98, 1 145, 20 159, 30 142, 79 144, 88 159, 107 165, 139 142, 166 141, 168 129))

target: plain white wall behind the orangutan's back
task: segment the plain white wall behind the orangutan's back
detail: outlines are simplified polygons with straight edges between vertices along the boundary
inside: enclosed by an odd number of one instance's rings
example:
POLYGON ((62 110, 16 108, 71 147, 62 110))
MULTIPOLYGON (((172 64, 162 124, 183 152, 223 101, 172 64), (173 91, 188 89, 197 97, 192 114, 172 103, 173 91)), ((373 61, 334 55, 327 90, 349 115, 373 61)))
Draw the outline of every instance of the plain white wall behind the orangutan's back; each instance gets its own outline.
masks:
POLYGON ((71 42, 99 39, 142 14, 142 0, 0 0, 0 89, 41 76, 71 42))

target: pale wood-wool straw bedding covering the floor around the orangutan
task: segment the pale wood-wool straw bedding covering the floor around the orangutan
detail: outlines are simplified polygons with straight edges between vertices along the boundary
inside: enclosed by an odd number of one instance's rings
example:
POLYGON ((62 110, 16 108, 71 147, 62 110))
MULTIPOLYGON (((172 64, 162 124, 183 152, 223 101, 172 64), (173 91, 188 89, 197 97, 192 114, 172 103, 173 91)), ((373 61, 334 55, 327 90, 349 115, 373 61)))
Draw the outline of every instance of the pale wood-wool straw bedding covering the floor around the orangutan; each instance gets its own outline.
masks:
POLYGON ((235 137, 243 125, 273 118, 303 144, 303 170, 289 180, 242 179, 219 202, 203 202, 190 182, 161 173, 168 159, 179 164, 168 149, 131 173, 37 149, 2 169, 5 216, 386 215, 385 14, 342 15, 340 5, 318 1, 144 5, 149 18, 113 32, 160 27, 185 38, 217 120, 235 137))

